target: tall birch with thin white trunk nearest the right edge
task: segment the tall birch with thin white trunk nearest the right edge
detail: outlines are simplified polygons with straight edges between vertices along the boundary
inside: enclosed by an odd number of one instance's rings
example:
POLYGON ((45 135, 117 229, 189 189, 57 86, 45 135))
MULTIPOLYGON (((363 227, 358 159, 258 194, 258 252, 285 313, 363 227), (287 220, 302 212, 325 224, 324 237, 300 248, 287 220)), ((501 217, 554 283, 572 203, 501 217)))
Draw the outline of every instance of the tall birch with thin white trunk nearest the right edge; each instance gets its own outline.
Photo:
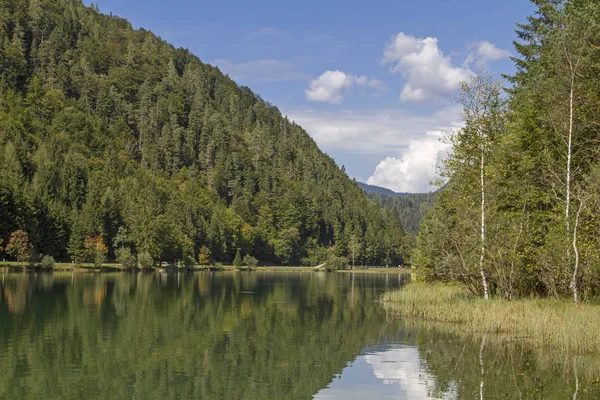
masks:
POLYGON ((585 86, 596 73, 590 55, 597 49, 590 38, 597 28, 585 8, 560 9, 557 20, 559 28, 549 35, 548 51, 542 58, 546 70, 539 95, 543 99, 549 134, 555 138, 549 141, 551 147, 548 148, 552 192, 564 210, 564 262, 557 267, 554 276, 562 277, 564 284, 559 281, 558 285, 570 291, 578 303, 577 233, 585 197, 580 183, 592 160, 593 146, 590 145, 595 136, 590 135, 595 129, 590 129, 586 121, 585 114, 590 110, 584 109, 589 108, 591 99, 585 86))

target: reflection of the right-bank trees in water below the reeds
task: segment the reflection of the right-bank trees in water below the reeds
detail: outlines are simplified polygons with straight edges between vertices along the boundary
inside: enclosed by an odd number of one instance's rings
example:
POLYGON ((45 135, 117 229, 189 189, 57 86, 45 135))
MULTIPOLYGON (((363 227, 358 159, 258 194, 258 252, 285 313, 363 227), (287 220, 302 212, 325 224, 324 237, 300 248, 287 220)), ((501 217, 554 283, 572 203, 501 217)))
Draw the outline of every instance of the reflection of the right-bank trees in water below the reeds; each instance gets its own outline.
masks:
POLYGON ((433 397, 455 391, 459 399, 570 399, 577 390, 578 399, 600 398, 600 357, 535 350, 489 334, 484 342, 461 333, 460 326, 405 323, 404 335, 414 338, 434 377, 433 397))

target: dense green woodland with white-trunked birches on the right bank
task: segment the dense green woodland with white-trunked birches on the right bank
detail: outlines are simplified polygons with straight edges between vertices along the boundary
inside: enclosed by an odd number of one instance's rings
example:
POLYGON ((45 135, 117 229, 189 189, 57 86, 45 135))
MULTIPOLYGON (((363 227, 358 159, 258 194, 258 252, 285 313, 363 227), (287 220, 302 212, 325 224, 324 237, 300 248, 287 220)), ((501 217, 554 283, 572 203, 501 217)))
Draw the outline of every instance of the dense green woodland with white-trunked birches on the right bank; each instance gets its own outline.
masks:
POLYGON ((448 185, 413 262, 504 298, 600 294, 600 2, 535 0, 516 73, 463 85, 448 185))

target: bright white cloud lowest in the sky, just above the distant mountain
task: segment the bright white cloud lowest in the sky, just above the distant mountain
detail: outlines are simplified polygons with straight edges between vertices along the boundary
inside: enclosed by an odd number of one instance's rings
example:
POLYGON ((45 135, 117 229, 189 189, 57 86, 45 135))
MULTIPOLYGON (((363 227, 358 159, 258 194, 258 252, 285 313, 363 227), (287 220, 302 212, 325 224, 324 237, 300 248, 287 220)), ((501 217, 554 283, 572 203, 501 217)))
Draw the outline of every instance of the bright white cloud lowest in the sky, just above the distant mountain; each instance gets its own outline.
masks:
POLYGON ((437 167, 451 145, 443 142, 443 131, 427 132, 413 139, 400 158, 386 157, 367 180, 370 185, 392 189, 396 192, 429 192, 434 189, 430 181, 438 178, 437 167))

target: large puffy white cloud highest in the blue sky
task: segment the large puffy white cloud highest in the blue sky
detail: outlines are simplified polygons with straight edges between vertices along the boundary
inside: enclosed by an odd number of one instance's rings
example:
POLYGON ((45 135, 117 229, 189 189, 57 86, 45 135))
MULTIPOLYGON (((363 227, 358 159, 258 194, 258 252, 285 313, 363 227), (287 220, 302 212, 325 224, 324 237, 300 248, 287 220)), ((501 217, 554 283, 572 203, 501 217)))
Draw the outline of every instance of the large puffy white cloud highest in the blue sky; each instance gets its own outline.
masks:
POLYGON ((459 88, 472 71, 452 65, 436 38, 416 38, 398 33, 386 46, 381 63, 406 79, 400 95, 403 101, 420 102, 439 98, 459 88))

